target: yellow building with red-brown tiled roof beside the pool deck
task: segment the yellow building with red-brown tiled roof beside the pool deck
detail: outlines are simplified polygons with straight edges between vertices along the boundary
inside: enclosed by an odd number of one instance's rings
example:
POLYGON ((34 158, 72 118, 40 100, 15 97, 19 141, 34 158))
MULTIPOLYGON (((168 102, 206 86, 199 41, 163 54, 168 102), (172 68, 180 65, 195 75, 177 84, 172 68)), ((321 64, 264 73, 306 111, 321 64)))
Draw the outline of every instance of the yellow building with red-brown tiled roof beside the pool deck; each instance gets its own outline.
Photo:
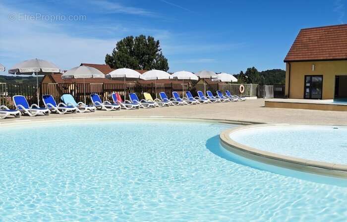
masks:
POLYGON ((347 98, 347 24, 301 29, 284 62, 288 98, 347 98))

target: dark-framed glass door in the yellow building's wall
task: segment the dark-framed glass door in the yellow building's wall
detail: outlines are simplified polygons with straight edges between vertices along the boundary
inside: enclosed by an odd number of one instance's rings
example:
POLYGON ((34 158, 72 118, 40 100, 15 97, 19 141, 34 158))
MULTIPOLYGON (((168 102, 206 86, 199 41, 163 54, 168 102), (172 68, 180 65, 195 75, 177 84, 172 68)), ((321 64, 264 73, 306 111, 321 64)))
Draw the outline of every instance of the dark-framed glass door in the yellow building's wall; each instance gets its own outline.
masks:
POLYGON ((305 75, 304 98, 305 99, 322 99, 323 76, 322 75, 305 75))

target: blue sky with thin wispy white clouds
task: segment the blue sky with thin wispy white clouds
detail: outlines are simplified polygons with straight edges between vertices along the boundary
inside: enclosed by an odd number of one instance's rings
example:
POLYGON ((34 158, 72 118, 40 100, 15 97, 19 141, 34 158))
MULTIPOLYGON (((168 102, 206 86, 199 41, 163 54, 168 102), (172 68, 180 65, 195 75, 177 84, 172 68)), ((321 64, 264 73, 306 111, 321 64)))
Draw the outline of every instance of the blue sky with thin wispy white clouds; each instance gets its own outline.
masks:
POLYGON ((117 40, 144 34, 172 72, 284 69, 301 28, 343 24, 346 11, 347 0, 1 0, 0 63, 105 63, 117 40))

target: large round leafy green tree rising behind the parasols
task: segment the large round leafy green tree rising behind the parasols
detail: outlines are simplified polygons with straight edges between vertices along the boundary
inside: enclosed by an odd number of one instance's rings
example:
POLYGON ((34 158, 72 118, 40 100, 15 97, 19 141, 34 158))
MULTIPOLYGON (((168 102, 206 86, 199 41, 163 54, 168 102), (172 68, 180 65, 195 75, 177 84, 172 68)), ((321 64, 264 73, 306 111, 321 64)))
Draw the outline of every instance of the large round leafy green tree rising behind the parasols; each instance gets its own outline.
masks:
POLYGON ((152 36, 127 36, 116 44, 112 55, 105 56, 111 68, 159 69, 168 71, 168 59, 163 55, 159 40, 152 36))

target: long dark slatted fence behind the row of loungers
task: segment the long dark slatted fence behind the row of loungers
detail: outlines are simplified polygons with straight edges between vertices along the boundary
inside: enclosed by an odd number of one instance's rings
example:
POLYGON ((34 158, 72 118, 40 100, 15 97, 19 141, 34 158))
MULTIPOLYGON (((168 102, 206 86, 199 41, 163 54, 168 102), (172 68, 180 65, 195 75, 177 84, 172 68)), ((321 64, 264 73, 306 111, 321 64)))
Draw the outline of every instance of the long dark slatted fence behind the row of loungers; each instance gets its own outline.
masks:
MULTIPOLYGON (((185 97, 185 92, 190 91, 193 96, 197 96, 197 91, 205 92, 210 90, 213 94, 216 94, 217 90, 225 93, 226 90, 229 90, 232 95, 238 96, 257 96, 258 84, 243 84, 244 92, 241 94, 239 92, 239 87, 241 84, 126 84, 125 86, 125 95, 126 99, 128 98, 128 93, 134 92, 140 99, 143 99, 143 93, 148 92, 152 95, 153 98, 159 98, 159 92, 165 92, 168 97, 172 97, 172 92, 176 91, 181 97, 185 97)), ((26 84, 26 83, 16 83, 16 84, 3 84, 2 92, 0 85, 0 105, 6 105, 8 107, 13 107, 12 96, 14 95, 23 95, 27 98, 29 104, 37 103, 36 96, 36 84, 26 84)), ((60 97, 63 94, 71 94, 76 101, 84 101, 84 92, 86 95, 86 102, 91 103, 90 94, 97 93, 100 95, 102 100, 111 101, 111 94, 116 92, 124 99, 124 84, 109 84, 109 83, 100 83, 100 84, 80 84, 80 83, 42 83, 39 88, 40 91, 40 105, 43 106, 41 97, 45 94, 52 95, 55 100, 60 102, 60 97)))

